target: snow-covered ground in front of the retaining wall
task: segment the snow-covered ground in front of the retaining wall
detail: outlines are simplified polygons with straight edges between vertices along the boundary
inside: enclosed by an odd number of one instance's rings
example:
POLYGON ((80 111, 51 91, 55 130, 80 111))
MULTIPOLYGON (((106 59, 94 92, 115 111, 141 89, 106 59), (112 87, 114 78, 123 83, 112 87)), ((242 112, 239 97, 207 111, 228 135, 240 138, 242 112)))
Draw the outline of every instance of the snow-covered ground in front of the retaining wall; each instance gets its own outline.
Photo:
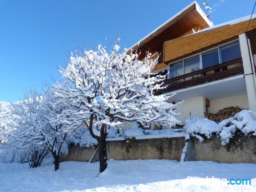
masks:
POLYGON ((108 163, 100 176, 98 163, 62 162, 57 172, 52 164, 28 168, 26 164, 2 163, 0 191, 256 191, 256 164, 170 160, 108 163), (251 178, 251 185, 228 185, 221 180, 230 178, 251 178))

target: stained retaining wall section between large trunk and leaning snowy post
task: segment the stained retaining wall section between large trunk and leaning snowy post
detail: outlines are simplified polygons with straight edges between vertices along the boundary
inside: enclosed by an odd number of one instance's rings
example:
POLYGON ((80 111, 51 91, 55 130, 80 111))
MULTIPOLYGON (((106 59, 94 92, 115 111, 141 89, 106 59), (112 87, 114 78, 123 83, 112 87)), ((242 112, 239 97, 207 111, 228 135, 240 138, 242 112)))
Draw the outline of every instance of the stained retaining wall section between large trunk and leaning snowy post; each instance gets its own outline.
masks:
POLYGON ((184 137, 111 141, 107 143, 108 159, 172 159, 180 160, 184 137))

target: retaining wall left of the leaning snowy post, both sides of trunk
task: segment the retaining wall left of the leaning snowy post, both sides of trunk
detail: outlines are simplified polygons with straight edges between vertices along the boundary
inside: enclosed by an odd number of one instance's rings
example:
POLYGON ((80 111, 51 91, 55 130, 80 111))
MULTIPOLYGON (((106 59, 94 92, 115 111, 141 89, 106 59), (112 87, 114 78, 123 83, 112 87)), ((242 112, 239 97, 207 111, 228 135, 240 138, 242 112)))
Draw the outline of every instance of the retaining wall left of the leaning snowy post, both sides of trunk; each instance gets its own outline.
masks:
MULTIPOLYGON (((179 161, 184 144, 184 137, 140 139, 130 140, 129 142, 126 142, 126 140, 107 141, 106 150, 108 159, 172 159, 179 161)), ((96 148, 71 145, 68 155, 62 156, 60 161, 89 161, 95 150, 96 148)), ((94 157, 92 162, 97 161, 97 159, 98 157, 94 157)))

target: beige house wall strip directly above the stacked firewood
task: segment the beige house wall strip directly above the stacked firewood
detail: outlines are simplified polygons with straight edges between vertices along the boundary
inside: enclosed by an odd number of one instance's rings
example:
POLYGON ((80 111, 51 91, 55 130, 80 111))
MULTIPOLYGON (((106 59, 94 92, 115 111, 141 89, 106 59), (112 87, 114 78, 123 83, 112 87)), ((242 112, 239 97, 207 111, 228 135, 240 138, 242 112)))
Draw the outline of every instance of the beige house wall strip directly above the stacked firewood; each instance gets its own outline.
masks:
POLYGON ((239 106, 241 109, 249 109, 247 95, 238 95, 233 97, 210 100, 209 113, 217 113, 228 106, 239 106))

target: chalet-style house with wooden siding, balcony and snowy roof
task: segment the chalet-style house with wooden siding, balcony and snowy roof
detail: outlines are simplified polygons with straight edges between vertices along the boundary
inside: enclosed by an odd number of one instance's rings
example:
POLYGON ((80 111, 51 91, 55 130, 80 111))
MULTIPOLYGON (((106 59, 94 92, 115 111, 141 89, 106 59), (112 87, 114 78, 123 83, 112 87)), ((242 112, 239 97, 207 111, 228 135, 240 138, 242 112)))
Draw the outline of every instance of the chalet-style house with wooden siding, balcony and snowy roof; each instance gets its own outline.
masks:
POLYGON ((212 25, 193 2, 142 38, 130 50, 158 56, 154 73, 183 104, 177 118, 205 117, 228 106, 256 111, 256 14, 212 25))

